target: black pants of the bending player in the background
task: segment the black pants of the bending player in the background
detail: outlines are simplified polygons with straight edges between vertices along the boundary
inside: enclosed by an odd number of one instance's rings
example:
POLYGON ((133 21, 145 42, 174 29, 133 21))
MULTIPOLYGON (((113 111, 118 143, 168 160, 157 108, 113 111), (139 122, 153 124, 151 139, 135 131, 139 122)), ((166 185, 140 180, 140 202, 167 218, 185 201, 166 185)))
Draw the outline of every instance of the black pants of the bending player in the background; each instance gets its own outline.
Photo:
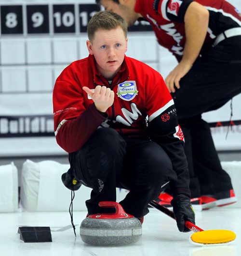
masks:
POLYGON ((185 136, 191 197, 231 189, 201 114, 218 109, 241 92, 241 36, 220 42, 196 60, 180 86, 173 97, 185 136))

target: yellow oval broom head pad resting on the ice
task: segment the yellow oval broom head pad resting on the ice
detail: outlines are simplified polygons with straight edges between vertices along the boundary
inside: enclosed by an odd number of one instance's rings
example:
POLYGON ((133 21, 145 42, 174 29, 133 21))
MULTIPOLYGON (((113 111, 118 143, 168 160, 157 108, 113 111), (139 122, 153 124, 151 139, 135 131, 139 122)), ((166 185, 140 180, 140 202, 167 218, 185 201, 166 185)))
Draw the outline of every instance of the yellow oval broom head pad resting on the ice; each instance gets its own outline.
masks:
POLYGON ((230 230, 215 229, 193 233, 190 239, 196 243, 217 244, 235 240, 236 234, 230 230))

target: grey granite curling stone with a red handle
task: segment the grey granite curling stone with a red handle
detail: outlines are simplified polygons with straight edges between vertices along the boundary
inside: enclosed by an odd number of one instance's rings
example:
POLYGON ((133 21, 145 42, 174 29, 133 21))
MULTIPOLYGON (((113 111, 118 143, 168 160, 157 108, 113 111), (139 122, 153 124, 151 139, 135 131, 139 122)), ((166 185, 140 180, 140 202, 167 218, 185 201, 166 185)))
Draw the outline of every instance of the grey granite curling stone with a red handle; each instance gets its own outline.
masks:
POLYGON ((80 225, 82 241, 93 245, 124 245, 138 241, 142 225, 116 202, 99 202, 100 207, 115 208, 115 213, 89 215, 80 225))

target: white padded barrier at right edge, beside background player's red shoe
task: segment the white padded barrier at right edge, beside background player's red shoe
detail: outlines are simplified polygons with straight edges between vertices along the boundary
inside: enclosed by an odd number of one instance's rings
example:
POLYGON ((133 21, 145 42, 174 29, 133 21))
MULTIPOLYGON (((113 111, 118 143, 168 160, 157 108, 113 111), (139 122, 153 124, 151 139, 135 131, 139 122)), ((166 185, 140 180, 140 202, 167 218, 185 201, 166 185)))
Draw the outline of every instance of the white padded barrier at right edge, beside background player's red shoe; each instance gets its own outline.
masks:
POLYGON ((241 208, 241 161, 221 162, 225 171, 228 172, 234 193, 238 199, 237 203, 228 205, 229 208, 241 208))

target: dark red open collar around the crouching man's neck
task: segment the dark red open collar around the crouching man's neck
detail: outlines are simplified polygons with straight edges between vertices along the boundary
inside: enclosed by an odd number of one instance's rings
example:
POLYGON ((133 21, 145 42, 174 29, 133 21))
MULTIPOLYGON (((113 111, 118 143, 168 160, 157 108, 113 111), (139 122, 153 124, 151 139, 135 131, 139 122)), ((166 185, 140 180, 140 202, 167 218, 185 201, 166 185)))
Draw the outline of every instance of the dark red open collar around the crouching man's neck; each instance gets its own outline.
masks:
MULTIPOLYGON (((108 86, 108 81, 107 78, 105 78, 103 75, 101 75, 96 68, 96 62, 94 59, 94 55, 89 55, 88 56, 88 62, 90 67, 93 67, 93 72, 94 72, 94 83, 96 85, 106 85, 108 86)), ((120 71, 116 74, 112 81, 112 85, 116 85, 118 83, 124 82, 127 80, 130 76, 129 68, 128 68, 128 57, 124 57, 124 61, 122 62, 120 71)))

